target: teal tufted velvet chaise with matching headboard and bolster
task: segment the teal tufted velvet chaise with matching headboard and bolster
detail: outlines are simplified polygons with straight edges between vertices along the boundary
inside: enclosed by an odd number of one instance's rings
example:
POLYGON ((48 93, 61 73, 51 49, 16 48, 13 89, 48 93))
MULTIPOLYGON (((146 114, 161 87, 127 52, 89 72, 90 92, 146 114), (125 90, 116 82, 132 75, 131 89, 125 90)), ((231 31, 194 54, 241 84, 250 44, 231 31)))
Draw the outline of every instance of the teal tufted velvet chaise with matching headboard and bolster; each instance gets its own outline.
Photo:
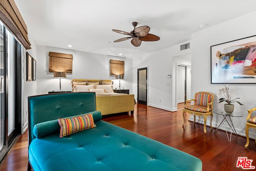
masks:
POLYGON ((59 93, 28 97, 28 170, 168 171, 202 170, 202 161, 153 139, 102 121, 95 93, 59 93), (95 128, 59 137, 57 119, 93 113, 95 128), (43 133, 35 137, 33 127, 43 133))

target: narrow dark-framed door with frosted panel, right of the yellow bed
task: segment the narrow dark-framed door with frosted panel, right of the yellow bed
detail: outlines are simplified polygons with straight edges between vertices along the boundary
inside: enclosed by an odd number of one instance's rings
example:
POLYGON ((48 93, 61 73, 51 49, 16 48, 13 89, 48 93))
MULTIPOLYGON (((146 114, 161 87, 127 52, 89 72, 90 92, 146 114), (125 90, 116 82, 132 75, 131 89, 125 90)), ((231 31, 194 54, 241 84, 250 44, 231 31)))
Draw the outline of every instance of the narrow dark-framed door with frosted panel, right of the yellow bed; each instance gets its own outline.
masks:
POLYGON ((138 78, 138 103, 147 105, 148 99, 148 68, 140 68, 137 72, 138 78))

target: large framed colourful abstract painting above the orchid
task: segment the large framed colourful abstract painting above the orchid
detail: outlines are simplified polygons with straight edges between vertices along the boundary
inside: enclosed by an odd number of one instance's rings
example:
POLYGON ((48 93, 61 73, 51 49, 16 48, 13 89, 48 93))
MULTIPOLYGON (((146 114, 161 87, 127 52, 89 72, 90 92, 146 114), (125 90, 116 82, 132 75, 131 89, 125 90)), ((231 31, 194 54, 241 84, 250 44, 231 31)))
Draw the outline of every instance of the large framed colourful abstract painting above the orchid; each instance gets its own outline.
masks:
POLYGON ((256 83, 256 36, 211 46, 211 83, 256 83))

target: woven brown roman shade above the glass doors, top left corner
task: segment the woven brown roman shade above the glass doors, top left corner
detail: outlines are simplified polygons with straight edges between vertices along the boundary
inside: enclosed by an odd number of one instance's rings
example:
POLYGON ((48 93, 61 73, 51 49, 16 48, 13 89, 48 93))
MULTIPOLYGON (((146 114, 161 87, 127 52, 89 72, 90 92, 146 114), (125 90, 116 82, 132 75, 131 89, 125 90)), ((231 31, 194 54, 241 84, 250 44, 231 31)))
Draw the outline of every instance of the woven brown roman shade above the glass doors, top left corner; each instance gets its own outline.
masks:
POLYGON ((0 0, 0 20, 26 49, 31 49, 27 26, 14 0, 0 0))

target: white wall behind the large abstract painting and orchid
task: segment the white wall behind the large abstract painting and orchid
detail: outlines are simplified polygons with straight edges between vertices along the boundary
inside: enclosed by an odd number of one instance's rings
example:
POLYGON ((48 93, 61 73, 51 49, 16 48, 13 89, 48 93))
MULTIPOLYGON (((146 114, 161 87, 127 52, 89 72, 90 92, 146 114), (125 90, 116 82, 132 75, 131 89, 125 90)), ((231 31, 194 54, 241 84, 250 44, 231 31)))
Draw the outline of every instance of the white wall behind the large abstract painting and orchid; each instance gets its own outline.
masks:
MULTIPOLYGON (((209 91, 215 94, 214 110, 223 110, 224 103, 218 103, 218 89, 222 84, 211 84, 210 71, 210 46, 256 35, 256 23, 252 20, 256 12, 240 16, 233 20, 223 22, 195 32, 192 34, 192 94, 197 91, 209 91)), ((240 97, 244 106, 235 104, 235 112, 242 113, 243 117, 233 118, 236 132, 245 136, 245 122, 247 109, 256 106, 256 84, 231 84, 230 94, 232 98, 240 97)), ((190 118, 192 119, 192 118, 190 118)), ((198 122, 202 122, 200 118, 198 122)), ((208 119, 210 120, 210 119, 208 119)), ((220 115, 214 114, 212 126, 217 127, 222 120, 220 115)), ((207 122, 209 125, 209 122, 207 122)), ((223 128, 223 127, 222 127, 223 128)), ((250 130, 250 137, 256 138, 254 130, 250 130)))

